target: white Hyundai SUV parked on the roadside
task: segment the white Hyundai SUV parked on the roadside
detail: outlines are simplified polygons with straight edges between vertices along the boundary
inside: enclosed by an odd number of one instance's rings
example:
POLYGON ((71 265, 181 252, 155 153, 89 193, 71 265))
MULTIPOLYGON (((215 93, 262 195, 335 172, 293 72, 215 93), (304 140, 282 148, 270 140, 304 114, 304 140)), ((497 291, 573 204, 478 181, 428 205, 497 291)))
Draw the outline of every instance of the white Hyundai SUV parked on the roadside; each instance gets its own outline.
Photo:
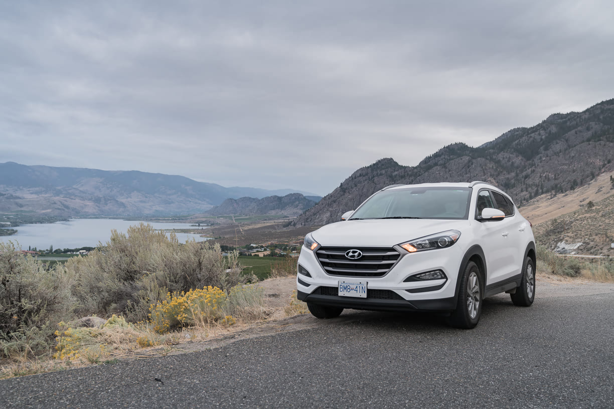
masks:
POLYGON ((317 318, 443 311, 473 328, 484 297, 499 292, 533 303, 535 239, 510 197, 485 182, 387 186, 309 233, 298 258, 297 297, 317 318))

